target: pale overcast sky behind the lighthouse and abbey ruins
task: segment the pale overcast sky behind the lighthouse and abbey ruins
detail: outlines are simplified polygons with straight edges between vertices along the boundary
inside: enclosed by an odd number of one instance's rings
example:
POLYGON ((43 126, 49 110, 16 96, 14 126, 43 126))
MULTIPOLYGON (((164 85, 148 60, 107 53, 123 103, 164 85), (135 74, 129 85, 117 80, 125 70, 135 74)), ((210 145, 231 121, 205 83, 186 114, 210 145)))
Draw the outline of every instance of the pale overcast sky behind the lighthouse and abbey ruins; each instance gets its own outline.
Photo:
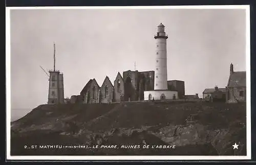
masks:
POLYGON ((112 83, 117 73, 155 69, 154 35, 167 39, 168 80, 185 81, 185 94, 225 87, 229 65, 245 70, 245 9, 11 10, 11 108, 21 117, 48 101, 48 77, 64 75, 65 98, 95 78, 112 83), (28 109, 28 110, 20 110, 28 109))

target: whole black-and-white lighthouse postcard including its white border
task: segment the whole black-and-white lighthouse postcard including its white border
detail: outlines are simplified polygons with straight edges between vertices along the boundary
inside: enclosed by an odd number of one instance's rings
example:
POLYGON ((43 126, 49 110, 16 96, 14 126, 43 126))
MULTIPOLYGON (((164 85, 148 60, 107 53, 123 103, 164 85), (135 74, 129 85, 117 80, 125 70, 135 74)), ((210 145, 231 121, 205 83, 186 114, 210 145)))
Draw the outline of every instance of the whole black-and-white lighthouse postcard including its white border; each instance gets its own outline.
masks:
POLYGON ((9 7, 9 159, 250 159, 249 6, 9 7))

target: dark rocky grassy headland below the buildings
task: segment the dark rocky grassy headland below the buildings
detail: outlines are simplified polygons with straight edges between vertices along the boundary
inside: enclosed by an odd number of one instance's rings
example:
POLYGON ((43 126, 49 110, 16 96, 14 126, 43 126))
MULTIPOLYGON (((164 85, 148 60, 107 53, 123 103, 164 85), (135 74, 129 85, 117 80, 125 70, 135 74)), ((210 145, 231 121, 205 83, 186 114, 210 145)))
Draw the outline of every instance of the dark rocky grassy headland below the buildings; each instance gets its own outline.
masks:
POLYGON ((11 155, 63 154, 246 155, 246 104, 40 105, 11 123, 11 155), (239 150, 233 150, 234 143, 239 150), (119 149, 24 149, 25 145, 117 145, 119 149), (122 145, 140 147, 121 149, 122 145), (175 149, 156 149, 174 145, 175 149))

